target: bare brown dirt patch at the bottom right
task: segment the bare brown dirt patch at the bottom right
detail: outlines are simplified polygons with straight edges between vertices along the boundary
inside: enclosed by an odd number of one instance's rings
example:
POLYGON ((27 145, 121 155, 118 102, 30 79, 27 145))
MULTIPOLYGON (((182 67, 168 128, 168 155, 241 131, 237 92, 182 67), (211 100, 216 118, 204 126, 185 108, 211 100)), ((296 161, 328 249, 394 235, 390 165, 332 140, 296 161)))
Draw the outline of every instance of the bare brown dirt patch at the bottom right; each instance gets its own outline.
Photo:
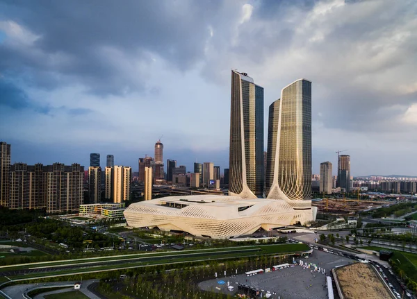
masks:
POLYGON ((392 298, 369 264, 352 264, 336 269, 345 299, 392 298))

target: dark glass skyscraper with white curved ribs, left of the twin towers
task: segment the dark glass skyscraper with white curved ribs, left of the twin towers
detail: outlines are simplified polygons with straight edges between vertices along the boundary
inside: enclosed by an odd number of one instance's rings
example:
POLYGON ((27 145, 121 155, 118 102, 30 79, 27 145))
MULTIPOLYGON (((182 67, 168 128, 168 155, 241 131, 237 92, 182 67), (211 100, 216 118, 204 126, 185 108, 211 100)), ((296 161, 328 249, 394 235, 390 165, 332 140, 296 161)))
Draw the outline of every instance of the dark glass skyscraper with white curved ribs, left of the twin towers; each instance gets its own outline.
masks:
POLYGON ((263 87, 255 85, 246 73, 231 71, 230 116, 229 194, 243 198, 261 197, 263 87))

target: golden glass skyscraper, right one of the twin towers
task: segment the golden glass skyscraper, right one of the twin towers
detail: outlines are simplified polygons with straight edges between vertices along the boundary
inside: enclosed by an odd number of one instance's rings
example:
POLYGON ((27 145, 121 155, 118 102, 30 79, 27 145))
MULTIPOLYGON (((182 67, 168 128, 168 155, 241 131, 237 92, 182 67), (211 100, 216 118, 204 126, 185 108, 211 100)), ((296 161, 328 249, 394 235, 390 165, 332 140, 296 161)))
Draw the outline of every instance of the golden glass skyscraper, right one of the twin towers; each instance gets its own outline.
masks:
POLYGON ((270 105, 268 198, 311 199, 311 82, 299 79, 270 105), (273 173, 272 183, 270 176, 273 173))

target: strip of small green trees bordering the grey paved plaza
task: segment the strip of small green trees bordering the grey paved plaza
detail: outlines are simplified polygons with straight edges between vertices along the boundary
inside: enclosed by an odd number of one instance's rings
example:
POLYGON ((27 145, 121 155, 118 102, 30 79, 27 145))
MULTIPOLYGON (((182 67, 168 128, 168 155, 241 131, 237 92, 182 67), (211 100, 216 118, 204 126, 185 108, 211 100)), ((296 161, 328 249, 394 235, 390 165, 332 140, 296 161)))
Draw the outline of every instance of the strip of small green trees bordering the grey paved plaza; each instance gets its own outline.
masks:
POLYGON ((204 280, 226 275, 235 275, 254 268, 267 268, 275 264, 292 262, 291 256, 261 256, 234 261, 210 262, 199 266, 186 266, 181 268, 167 269, 165 266, 152 268, 149 271, 135 270, 128 273, 126 280, 101 280, 99 291, 107 298, 233 298, 230 295, 202 291, 198 283, 204 280), (167 271, 168 270, 168 271, 167 271), (175 297, 172 297, 175 296, 175 297))

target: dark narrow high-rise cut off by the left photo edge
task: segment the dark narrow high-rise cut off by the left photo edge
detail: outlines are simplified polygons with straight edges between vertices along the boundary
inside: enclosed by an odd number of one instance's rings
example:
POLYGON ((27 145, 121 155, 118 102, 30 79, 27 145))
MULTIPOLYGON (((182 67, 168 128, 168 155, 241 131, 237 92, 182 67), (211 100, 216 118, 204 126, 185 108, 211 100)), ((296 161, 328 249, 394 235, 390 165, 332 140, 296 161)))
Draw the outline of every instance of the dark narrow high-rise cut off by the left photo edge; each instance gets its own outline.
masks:
POLYGON ((0 206, 10 203, 10 144, 0 142, 0 206))

